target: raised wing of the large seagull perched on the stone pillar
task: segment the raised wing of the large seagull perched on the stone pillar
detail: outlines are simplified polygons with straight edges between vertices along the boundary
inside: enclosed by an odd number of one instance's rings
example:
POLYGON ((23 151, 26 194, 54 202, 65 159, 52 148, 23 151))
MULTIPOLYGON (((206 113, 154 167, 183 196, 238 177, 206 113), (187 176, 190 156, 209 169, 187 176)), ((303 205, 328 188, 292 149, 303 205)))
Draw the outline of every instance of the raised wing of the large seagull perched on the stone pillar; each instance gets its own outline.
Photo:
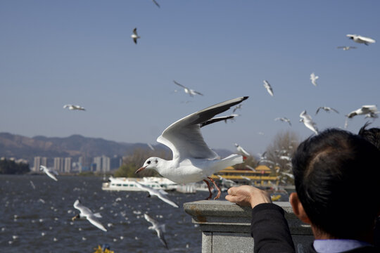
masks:
POLYGON ((172 150, 173 159, 187 157, 216 159, 219 157, 217 153, 210 150, 203 140, 201 124, 247 98, 248 96, 227 100, 179 119, 168 126, 163 134, 158 136, 157 141, 172 150))

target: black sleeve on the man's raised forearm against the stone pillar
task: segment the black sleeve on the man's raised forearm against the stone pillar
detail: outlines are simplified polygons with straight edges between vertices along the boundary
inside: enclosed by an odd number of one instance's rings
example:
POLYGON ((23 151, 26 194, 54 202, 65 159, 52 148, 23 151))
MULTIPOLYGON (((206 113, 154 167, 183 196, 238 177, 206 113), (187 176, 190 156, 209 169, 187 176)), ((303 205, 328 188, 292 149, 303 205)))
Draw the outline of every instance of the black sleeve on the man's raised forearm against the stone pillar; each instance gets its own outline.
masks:
POLYGON ((252 209, 251 235, 255 253, 296 252, 284 209, 272 203, 252 209))

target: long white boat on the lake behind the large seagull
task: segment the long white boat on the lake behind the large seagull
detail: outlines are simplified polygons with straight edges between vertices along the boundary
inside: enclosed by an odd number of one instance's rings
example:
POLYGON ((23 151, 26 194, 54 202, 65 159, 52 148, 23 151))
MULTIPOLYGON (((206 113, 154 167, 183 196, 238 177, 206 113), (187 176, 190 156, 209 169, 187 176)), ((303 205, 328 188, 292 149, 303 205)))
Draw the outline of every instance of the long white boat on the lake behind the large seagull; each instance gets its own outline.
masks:
POLYGON ((159 177, 144 177, 142 179, 138 178, 114 178, 110 176, 109 181, 102 183, 102 190, 129 190, 129 191, 141 191, 141 188, 137 187, 135 182, 139 182, 144 186, 151 187, 156 190, 175 190, 177 188, 177 183, 170 181, 169 179, 159 178, 159 177))

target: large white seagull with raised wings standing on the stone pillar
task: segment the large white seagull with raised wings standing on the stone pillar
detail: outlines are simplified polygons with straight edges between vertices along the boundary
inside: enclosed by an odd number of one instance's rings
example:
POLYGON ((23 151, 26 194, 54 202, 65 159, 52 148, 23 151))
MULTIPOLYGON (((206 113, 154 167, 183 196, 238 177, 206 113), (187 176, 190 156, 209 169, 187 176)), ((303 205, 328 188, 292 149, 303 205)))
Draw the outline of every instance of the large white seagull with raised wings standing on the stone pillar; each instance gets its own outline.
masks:
POLYGON ((177 122, 171 124, 158 136, 157 141, 163 143, 172 150, 173 160, 163 160, 159 157, 150 157, 144 162, 143 167, 136 173, 144 169, 154 169, 159 174, 175 183, 196 183, 205 181, 208 185, 210 196, 212 197, 210 184, 213 182, 218 193, 215 200, 220 197, 220 188, 215 181, 210 178, 212 174, 226 167, 243 162, 241 155, 232 154, 224 159, 208 148, 201 134, 201 124, 213 121, 217 114, 229 110, 234 105, 246 100, 248 96, 234 98, 231 100, 212 105, 198 112, 194 112, 177 122))

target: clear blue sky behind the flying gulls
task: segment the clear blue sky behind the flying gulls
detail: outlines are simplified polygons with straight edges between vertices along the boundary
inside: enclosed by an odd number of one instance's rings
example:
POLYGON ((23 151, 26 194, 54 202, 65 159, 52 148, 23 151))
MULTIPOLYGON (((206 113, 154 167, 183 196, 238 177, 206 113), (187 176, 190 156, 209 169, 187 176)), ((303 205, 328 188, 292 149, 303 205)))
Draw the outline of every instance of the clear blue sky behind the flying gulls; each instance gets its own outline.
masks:
MULTIPOLYGON (((380 106, 380 1, 157 1, 0 1, 0 132, 157 144, 178 119, 249 96, 234 122, 202 133, 210 148, 239 143, 255 154, 279 133, 312 135, 303 110, 323 130, 343 127, 362 105, 380 106), (315 115, 320 106, 339 114, 315 115)), ((367 120, 354 117, 347 130, 367 120)))

